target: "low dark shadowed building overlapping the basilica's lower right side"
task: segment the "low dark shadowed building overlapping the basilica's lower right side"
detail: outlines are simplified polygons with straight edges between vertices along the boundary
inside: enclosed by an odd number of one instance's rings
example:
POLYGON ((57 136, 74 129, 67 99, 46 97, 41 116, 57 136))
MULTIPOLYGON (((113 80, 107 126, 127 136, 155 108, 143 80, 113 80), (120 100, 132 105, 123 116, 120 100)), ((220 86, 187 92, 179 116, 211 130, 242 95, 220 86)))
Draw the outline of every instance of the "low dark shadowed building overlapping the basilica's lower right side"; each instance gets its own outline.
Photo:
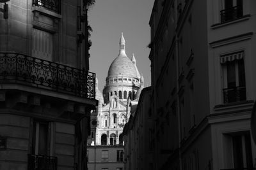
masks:
POLYGON ((129 122, 124 127, 124 169, 152 169, 153 150, 150 131, 154 128, 152 120, 151 87, 141 91, 140 99, 133 103, 129 122))

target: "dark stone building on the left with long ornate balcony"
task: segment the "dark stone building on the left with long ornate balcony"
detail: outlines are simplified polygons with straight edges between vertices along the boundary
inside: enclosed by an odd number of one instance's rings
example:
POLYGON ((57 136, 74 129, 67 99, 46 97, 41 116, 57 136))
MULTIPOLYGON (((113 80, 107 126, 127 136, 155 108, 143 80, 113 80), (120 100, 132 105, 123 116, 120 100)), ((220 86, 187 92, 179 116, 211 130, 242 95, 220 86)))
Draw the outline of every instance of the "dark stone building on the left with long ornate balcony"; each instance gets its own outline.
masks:
POLYGON ((0 3, 0 169, 87 169, 86 3, 0 3))

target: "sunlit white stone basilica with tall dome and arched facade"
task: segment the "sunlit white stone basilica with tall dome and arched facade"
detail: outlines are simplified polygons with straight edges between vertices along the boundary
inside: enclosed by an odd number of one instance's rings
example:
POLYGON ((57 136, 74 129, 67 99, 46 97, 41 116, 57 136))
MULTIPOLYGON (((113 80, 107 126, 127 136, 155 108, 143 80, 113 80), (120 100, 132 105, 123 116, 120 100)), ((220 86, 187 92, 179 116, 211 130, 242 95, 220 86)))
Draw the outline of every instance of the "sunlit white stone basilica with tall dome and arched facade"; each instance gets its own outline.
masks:
POLYGON ((125 53, 125 39, 120 38, 118 57, 111 63, 102 92, 96 80, 97 110, 91 115, 89 145, 124 145, 122 132, 131 113, 131 101, 138 101, 143 89, 143 76, 136 66, 136 59, 125 53))

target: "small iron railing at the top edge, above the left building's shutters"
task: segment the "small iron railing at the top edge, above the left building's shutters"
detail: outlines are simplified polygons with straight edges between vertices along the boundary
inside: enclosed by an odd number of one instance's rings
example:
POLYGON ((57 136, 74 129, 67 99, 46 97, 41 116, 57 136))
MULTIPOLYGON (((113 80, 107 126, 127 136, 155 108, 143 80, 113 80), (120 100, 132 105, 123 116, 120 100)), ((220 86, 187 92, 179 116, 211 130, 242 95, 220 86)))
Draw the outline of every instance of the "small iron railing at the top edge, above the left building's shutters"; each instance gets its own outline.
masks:
POLYGON ((60 0, 33 0, 33 6, 42 6, 47 10, 54 11, 55 13, 61 12, 60 0))

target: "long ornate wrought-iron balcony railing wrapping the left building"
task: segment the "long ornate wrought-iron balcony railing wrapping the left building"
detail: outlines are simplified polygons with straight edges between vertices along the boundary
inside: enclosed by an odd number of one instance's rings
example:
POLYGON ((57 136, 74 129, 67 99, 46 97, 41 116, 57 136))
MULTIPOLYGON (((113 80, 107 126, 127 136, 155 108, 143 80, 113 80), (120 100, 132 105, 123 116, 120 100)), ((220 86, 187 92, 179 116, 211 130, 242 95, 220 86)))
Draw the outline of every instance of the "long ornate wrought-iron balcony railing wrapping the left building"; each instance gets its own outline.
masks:
POLYGON ((0 52, 0 83, 19 83, 95 99, 95 73, 19 53, 0 52))

